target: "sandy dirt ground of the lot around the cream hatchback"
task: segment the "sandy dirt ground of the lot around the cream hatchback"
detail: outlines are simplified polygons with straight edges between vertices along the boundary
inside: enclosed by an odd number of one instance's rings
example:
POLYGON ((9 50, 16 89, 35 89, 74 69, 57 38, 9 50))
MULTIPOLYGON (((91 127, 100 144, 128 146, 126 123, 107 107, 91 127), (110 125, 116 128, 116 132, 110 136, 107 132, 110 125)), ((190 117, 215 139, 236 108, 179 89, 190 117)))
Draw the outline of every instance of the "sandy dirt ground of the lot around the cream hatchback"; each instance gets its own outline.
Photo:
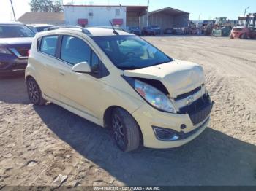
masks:
POLYGON ((23 78, 0 79, 0 190, 7 185, 256 185, 256 41, 146 37, 203 66, 211 125, 176 149, 124 153, 110 133, 55 104, 33 106, 23 78))

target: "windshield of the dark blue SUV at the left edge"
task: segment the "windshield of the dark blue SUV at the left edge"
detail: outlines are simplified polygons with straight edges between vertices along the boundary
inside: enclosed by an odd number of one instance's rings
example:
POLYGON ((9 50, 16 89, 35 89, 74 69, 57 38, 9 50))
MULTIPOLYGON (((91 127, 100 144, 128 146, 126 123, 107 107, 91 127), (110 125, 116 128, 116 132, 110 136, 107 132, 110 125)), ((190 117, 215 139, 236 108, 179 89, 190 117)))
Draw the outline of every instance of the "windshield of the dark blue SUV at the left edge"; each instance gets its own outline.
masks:
POLYGON ((34 32, 23 25, 0 25, 0 38, 34 37, 34 32))

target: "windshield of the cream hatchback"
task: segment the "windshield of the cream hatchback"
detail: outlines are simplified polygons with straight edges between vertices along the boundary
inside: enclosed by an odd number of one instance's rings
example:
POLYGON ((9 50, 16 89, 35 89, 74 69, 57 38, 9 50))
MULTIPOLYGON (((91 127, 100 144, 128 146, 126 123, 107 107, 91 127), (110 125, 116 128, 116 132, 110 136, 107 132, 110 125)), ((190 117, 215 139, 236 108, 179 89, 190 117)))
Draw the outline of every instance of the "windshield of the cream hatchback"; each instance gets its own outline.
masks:
POLYGON ((138 36, 94 36, 92 38, 118 69, 140 69, 173 61, 138 36))

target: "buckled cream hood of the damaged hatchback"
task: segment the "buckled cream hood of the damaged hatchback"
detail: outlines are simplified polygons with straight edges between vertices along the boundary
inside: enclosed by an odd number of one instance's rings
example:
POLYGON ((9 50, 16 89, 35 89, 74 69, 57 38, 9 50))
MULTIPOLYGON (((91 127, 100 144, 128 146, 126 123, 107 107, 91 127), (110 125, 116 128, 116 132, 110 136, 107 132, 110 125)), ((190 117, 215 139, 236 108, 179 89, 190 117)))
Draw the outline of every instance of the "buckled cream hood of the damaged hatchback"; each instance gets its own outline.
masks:
POLYGON ((159 80, 172 98, 188 93, 205 83, 201 66, 178 60, 143 69, 125 70, 124 76, 159 80))

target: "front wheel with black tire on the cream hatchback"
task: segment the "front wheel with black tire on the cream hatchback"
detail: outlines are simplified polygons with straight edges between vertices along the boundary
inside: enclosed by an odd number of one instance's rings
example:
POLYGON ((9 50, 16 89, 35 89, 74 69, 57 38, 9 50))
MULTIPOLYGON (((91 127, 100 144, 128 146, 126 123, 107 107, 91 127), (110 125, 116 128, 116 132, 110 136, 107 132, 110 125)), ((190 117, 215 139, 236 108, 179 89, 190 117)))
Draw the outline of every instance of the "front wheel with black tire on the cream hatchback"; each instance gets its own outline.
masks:
POLYGON ((139 125, 127 111, 121 108, 113 110, 112 117, 113 138, 117 146, 124 152, 130 152, 140 147, 139 125))

